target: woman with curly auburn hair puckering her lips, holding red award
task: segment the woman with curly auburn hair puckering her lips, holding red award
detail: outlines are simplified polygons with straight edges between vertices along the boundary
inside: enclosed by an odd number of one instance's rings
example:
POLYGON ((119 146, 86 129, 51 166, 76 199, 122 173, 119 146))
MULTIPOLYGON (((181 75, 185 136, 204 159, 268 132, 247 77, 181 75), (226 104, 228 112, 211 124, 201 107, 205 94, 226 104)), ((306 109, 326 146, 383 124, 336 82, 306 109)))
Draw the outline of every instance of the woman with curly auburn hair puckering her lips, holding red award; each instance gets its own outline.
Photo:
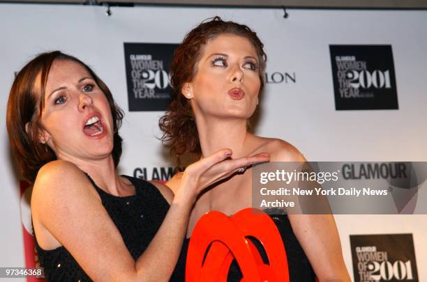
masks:
MULTIPOLYGON (((267 56, 263 46, 248 26, 219 17, 186 35, 171 66, 174 98, 159 123, 163 141, 178 158, 188 152, 204 157, 227 147, 232 148, 233 157, 268 152, 273 162, 305 161, 290 143, 248 131, 248 118, 264 88, 267 56)), ((167 185, 176 191, 181 176, 167 185)), ((206 212, 217 210, 230 216, 250 207, 251 187, 248 168, 200 194, 190 214, 187 237, 206 212)), ((275 216, 274 221, 287 251, 291 281, 314 281, 315 276, 320 281, 350 281, 332 215, 289 214, 275 216)), ((228 279, 241 279, 236 265, 228 279)))

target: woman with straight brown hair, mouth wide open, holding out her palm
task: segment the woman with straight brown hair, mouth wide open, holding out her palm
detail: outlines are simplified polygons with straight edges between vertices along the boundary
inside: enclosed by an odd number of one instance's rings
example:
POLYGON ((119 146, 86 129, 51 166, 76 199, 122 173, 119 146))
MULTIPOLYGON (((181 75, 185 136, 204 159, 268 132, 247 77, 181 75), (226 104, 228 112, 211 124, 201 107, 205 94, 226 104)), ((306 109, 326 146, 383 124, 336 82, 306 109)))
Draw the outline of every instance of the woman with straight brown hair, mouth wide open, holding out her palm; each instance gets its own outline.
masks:
POLYGON ((173 196, 155 182, 119 176, 123 113, 82 61, 33 58, 10 90, 7 129, 24 177, 47 281, 167 281, 197 194, 268 155, 230 159, 221 149, 188 166, 173 196))

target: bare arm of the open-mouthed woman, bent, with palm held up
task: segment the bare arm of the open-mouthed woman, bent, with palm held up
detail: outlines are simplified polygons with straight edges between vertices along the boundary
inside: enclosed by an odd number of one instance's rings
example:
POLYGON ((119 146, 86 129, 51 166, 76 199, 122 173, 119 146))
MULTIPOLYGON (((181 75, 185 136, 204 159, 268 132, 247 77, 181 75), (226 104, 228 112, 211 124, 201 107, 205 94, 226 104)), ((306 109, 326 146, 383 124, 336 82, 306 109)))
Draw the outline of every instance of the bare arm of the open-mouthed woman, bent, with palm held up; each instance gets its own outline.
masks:
POLYGON ((266 161, 256 156, 224 161, 226 157, 217 152, 186 170, 162 226, 136 262, 91 182, 68 162, 52 162, 40 170, 31 200, 34 228, 36 233, 47 230, 94 281, 168 281, 198 192, 240 166, 266 161))

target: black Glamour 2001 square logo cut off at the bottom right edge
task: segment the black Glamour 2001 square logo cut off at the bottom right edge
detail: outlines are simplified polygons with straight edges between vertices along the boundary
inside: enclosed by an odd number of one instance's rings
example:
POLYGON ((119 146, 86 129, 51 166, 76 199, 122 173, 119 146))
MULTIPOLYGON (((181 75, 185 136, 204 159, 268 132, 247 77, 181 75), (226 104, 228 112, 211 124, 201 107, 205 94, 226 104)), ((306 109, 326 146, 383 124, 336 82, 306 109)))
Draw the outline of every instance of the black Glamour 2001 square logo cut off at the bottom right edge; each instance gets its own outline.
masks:
POLYGON ((412 234, 350 235, 355 282, 418 280, 412 234))

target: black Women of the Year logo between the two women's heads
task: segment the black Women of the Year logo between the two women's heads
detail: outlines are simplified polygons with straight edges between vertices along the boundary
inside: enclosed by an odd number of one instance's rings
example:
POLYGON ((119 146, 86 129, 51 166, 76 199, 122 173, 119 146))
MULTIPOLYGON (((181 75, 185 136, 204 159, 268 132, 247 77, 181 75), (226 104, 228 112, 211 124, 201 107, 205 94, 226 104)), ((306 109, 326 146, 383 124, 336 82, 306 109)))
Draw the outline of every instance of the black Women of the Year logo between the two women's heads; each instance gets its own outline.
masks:
POLYGON ((169 65, 176 44, 124 43, 129 111, 165 111, 172 100, 169 65))

